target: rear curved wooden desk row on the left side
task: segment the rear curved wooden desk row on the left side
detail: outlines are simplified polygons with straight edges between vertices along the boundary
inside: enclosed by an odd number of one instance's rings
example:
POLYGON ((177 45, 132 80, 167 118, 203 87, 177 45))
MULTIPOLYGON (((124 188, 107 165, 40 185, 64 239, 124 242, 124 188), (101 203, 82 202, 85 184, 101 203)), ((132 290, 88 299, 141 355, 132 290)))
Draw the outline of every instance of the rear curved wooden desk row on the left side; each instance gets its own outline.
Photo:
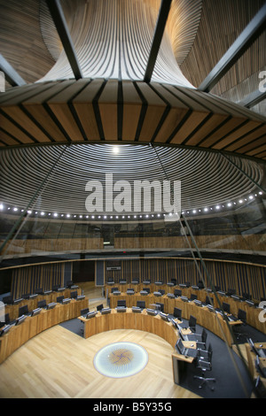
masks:
POLYGON ((28 311, 33 311, 38 307, 38 302, 45 300, 46 304, 52 302, 57 302, 58 297, 71 297, 71 292, 77 291, 78 295, 81 295, 82 289, 65 289, 59 292, 51 292, 48 295, 38 295, 34 299, 22 299, 18 304, 5 304, 4 312, 9 313, 10 320, 16 320, 19 318, 19 309, 20 306, 25 306, 27 304, 28 311))

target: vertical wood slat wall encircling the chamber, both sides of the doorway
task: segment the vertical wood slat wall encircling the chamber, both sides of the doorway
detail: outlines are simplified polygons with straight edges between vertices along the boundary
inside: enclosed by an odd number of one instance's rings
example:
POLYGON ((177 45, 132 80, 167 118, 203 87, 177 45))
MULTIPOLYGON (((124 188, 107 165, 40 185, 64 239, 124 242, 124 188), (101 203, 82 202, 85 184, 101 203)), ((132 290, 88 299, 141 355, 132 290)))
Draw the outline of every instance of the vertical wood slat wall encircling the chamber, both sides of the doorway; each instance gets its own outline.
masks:
MULTIPOLYGON (((266 297, 266 267, 215 260, 205 261, 205 265, 212 284, 221 290, 236 289, 237 294, 250 293, 258 300, 266 297)), ((56 284, 64 286, 65 266, 65 263, 52 263, 12 269, 12 296, 18 298, 23 294, 34 293, 36 288, 49 290, 56 284)), ((200 261, 198 266, 205 279, 200 261)), ((152 282, 167 283, 176 279, 177 283, 190 281, 196 285, 200 273, 192 259, 140 258, 121 260, 121 270, 106 270, 106 280, 113 278, 118 282, 125 279, 130 283, 137 278, 139 281, 149 279, 152 282)))

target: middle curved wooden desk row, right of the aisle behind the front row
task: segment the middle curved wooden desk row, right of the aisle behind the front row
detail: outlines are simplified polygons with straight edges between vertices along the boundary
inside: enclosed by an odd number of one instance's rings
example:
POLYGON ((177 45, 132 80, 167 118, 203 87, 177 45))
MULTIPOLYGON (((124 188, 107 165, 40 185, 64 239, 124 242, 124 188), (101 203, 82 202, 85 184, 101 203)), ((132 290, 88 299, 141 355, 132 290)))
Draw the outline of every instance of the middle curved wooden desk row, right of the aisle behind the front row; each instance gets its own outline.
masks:
MULTIPOLYGON (((164 312, 169 314, 174 314, 174 308, 177 307, 182 311, 182 318, 189 320, 190 316, 193 315, 197 318, 197 324, 201 327, 206 327, 215 335, 219 336, 224 340, 226 339, 227 343, 231 346, 233 339, 231 336, 231 330, 227 326, 223 317, 214 312, 209 312, 207 306, 199 307, 193 302, 183 302, 179 297, 175 299, 170 299, 166 295, 162 297, 155 297, 153 294, 142 296, 139 293, 135 295, 126 295, 122 293, 121 295, 110 295, 110 307, 115 308, 117 306, 118 300, 126 300, 127 307, 132 307, 137 305, 137 301, 145 301, 145 306, 147 308, 153 308, 153 304, 161 303, 164 304, 164 312)), ((241 324, 241 321, 232 321, 229 322, 230 326, 241 324)))

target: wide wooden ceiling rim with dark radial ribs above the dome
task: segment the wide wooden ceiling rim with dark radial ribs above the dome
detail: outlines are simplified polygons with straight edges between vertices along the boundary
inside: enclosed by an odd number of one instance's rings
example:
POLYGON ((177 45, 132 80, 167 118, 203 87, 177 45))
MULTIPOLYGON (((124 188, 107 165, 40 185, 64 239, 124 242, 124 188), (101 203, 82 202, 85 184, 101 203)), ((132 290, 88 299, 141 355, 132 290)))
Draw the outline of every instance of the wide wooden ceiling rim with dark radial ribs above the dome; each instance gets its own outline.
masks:
POLYGON ((0 96, 0 150, 153 143, 266 160, 266 118, 197 89, 144 81, 48 81, 0 96))

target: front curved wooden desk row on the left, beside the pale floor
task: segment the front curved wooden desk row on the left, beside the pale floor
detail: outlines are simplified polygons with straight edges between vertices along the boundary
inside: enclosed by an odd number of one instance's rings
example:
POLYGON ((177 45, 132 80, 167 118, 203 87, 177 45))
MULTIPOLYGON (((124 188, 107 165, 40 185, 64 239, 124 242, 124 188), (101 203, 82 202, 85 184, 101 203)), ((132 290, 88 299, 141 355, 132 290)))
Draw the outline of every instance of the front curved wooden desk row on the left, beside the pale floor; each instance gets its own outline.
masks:
POLYGON ((27 316, 20 325, 12 326, 0 338, 0 363, 8 358, 13 351, 45 329, 80 316, 81 310, 87 308, 88 304, 88 298, 77 301, 72 299, 69 304, 56 304, 51 310, 42 309, 38 315, 27 316))

